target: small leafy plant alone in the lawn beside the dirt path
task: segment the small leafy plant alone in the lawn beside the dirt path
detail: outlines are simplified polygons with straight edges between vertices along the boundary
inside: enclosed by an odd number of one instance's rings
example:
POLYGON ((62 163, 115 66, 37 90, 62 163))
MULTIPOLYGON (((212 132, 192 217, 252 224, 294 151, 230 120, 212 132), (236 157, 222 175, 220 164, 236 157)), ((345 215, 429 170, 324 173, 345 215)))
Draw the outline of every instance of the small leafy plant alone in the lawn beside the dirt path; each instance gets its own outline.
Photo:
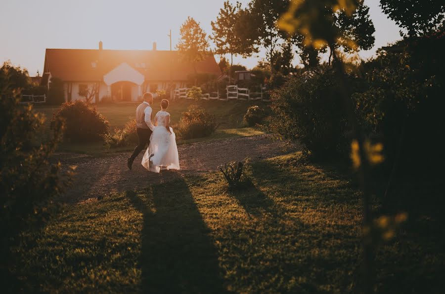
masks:
POLYGON ((243 161, 232 161, 222 164, 220 171, 223 173, 229 188, 239 188, 250 183, 249 159, 243 161))

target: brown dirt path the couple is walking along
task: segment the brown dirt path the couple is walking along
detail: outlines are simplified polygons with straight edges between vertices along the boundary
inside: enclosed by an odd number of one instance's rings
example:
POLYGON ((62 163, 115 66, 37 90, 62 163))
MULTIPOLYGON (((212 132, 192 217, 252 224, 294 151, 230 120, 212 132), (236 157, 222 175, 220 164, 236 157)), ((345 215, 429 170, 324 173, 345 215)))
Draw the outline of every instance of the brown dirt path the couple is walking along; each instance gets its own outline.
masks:
POLYGON ((55 155, 64 165, 76 165, 76 178, 63 200, 70 203, 144 188, 149 184, 164 183, 176 177, 216 170, 220 164, 246 157, 261 160, 297 150, 299 146, 272 141, 267 135, 232 138, 222 141, 178 146, 179 171, 162 171, 160 174, 145 170, 140 161, 143 152, 134 160, 133 169, 127 168, 131 152, 112 153, 104 157, 63 153, 55 155))

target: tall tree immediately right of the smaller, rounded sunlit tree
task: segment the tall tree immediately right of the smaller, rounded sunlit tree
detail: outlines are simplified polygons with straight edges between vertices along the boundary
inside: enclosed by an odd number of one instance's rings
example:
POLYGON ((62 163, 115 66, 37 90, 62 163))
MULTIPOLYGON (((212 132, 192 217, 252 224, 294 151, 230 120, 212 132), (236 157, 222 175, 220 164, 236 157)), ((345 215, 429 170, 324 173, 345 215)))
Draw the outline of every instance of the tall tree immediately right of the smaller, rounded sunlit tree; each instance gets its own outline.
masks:
POLYGON ((230 54, 230 66, 233 64, 233 55, 250 56, 254 51, 253 42, 248 42, 237 34, 237 29, 240 29, 241 10, 240 2, 232 5, 229 1, 225 1, 217 20, 211 22, 213 30, 211 38, 217 47, 216 53, 230 54))

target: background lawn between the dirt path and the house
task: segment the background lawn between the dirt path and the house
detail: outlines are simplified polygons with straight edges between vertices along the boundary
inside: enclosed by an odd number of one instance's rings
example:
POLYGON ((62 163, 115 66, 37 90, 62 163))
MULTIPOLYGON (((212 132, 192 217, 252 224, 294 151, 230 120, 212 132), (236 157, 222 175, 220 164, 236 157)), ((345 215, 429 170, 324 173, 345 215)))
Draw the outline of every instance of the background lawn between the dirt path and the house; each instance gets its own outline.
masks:
MULTIPOLYGON (((260 105, 267 108, 267 104, 259 102, 260 105)), ((155 101, 155 107, 153 110, 155 113, 158 111, 159 101, 155 101)), ((181 113, 192 104, 190 100, 173 101, 170 104, 168 111, 171 114, 172 123, 178 123, 181 113)), ((134 112, 138 103, 119 103, 109 105, 97 105, 97 109, 102 113, 110 123, 110 129, 113 131, 115 128, 122 128, 131 119, 134 118, 134 112)), ((191 140, 178 141, 178 144, 187 144, 194 142, 205 142, 226 139, 231 137, 247 137, 264 134, 260 130, 254 128, 240 128, 242 126, 243 116, 251 105, 259 105, 258 103, 249 102, 223 102, 223 101, 199 101, 198 105, 204 107, 209 113, 215 114, 216 121, 219 127, 215 134, 206 138, 198 138, 191 140)), ((37 111, 44 113, 47 118, 47 126, 49 128, 49 121, 53 113, 58 108, 51 106, 36 106, 37 111)), ((159 107, 160 110, 160 107, 159 107)), ((47 131, 46 131, 47 132, 47 131)), ((45 136, 45 133, 43 134, 45 136)), ((105 149, 101 142, 85 143, 85 144, 71 144, 62 143, 59 147, 61 152, 75 152, 75 153, 87 153, 87 154, 103 154, 116 151, 128 151, 134 149, 134 146, 130 147, 118 147, 112 149, 105 149)))

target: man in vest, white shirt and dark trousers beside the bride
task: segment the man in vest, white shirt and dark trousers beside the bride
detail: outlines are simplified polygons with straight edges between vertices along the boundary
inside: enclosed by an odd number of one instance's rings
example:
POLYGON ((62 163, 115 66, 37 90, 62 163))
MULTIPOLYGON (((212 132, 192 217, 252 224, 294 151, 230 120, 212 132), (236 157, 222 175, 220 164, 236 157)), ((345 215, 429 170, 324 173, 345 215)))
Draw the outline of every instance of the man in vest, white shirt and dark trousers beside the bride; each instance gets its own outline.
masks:
POLYGON ((140 151, 145 149, 145 145, 150 143, 150 136, 153 132, 154 126, 151 123, 151 113, 153 110, 150 105, 153 104, 153 94, 145 93, 142 102, 136 108, 136 133, 139 143, 134 148, 132 156, 127 159, 127 166, 132 169, 134 158, 139 155, 140 151))

